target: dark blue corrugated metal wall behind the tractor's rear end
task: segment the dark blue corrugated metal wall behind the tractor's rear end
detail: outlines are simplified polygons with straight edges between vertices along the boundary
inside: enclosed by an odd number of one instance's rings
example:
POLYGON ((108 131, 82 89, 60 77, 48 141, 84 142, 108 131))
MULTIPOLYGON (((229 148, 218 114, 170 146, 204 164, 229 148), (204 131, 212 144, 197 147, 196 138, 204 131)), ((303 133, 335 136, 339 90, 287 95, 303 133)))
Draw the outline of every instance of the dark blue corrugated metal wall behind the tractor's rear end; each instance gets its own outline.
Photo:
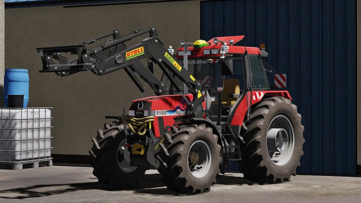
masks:
POLYGON ((356 0, 202 2, 201 25, 206 41, 265 43, 266 62, 287 74, 305 127, 297 172, 356 174, 356 0))

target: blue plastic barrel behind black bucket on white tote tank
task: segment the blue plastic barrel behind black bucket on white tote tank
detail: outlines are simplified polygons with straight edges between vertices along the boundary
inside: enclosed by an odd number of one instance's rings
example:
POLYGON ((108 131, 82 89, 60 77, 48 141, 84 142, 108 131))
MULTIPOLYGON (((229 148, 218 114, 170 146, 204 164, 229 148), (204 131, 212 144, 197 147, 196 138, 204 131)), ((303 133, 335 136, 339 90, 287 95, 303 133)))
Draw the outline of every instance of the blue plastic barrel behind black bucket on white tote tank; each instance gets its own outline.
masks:
POLYGON ((4 103, 8 105, 9 95, 24 95, 24 106, 29 102, 29 71, 27 69, 6 69, 4 77, 4 103))

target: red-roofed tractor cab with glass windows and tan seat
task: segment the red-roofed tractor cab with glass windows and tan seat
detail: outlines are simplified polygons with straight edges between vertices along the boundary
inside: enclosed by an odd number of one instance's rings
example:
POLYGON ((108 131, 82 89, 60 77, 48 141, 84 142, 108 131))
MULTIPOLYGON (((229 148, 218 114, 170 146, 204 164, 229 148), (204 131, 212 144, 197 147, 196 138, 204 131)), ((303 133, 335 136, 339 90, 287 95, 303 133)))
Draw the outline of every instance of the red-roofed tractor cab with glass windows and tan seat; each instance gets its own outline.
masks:
MULTIPOLYGON (((254 47, 232 46, 243 38, 221 37, 208 42, 199 40, 188 43, 193 47, 186 47, 187 44, 183 42, 183 47, 178 49, 175 56, 200 82, 206 99, 206 116, 213 122, 229 124, 237 100, 246 91, 270 89, 261 61, 261 57, 267 53, 254 47), (223 53, 224 50, 228 52, 223 53), (247 77, 250 75, 252 77, 247 77)), ((170 88, 169 94, 178 94, 167 83, 166 87, 170 88)))

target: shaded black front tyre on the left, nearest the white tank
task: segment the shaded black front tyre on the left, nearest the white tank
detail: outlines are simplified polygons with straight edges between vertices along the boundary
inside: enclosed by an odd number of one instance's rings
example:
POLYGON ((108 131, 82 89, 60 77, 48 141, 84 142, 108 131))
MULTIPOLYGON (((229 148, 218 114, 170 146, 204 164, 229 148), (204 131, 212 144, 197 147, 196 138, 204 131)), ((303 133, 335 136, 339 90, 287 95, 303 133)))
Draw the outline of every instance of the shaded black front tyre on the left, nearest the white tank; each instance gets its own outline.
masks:
POLYGON ((145 168, 129 167, 124 160, 118 162, 118 148, 126 141, 123 123, 105 124, 103 130, 98 130, 96 138, 92 139, 93 147, 89 149, 90 165, 98 181, 111 186, 134 185, 144 178, 145 168))

